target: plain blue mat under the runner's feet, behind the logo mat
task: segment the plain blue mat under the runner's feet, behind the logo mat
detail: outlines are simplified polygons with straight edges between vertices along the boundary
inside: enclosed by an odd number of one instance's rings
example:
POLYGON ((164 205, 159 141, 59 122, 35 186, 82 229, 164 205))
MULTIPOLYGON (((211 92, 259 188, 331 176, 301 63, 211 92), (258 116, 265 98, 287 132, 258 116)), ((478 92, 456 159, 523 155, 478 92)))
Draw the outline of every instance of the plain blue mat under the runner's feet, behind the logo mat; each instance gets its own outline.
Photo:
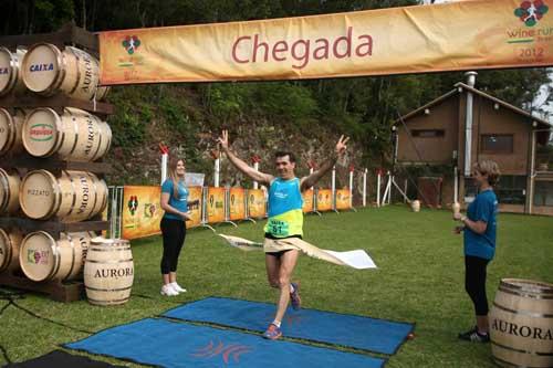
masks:
MULTIPOLYGON (((273 320, 274 312, 274 304, 208 297, 170 309, 163 316, 264 332, 273 320)), ((286 337, 395 354, 413 332, 414 325, 316 309, 289 308, 281 328, 286 337)))

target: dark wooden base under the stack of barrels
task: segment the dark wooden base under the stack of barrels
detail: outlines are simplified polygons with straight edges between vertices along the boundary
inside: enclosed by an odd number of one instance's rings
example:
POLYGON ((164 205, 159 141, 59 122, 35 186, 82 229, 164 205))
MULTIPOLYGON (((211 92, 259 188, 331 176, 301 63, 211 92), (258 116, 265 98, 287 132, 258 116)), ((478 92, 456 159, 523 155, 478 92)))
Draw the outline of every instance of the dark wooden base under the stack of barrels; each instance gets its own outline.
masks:
POLYGON ((85 296, 82 281, 64 283, 59 280, 50 280, 38 283, 27 278, 21 271, 0 273, 0 285, 48 294, 53 301, 63 303, 80 301, 85 296))

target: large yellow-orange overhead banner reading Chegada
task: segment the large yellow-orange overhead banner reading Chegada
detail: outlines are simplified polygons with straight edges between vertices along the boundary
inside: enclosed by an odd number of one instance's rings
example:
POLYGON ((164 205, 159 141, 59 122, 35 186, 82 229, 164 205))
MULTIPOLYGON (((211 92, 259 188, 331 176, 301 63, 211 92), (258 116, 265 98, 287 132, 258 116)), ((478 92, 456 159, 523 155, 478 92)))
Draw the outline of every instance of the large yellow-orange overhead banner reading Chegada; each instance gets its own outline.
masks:
POLYGON ((100 33, 101 83, 553 65, 553 0, 481 0, 100 33))

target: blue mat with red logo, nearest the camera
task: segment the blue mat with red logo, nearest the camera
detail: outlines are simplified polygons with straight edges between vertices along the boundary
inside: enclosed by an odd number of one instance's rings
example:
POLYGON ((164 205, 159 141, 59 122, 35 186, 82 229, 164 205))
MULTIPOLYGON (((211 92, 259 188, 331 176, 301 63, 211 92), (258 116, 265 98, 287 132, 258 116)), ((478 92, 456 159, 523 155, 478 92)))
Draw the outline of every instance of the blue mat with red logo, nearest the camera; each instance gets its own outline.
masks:
POLYGON ((385 362, 359 354, 271 341, 252 334, 154 318, 105 329, 65 347, 176 368, 380 368, 385 362))

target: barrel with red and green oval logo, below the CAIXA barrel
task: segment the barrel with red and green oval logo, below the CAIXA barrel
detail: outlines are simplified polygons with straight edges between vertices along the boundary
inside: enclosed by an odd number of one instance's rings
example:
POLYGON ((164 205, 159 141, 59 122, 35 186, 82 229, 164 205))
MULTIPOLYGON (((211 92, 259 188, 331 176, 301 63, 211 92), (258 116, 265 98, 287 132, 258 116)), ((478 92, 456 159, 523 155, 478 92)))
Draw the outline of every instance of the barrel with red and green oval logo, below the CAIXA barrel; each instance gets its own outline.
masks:
POLYGON ((65 107, 59 115, 39 107, 28 114, 22 140, 32 156, 58 154, 72 161, 94 161, 109 149, 112 130, 100 117, 79 108, 65 107))

